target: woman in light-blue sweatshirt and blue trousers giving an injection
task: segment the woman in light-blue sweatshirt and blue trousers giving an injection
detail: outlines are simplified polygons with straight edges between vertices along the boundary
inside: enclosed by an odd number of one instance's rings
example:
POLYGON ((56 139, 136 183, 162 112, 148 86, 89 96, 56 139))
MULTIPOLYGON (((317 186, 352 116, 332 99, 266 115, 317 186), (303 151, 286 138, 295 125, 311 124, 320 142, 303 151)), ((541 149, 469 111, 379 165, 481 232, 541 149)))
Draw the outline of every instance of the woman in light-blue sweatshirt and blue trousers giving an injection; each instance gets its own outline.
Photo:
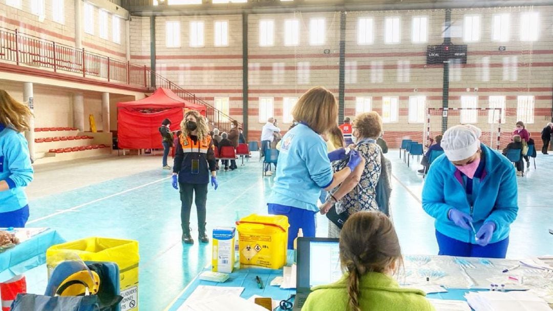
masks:
MULTIPOLYGON (((338 105, 332 92, 317 86, 300 97, 292 116, 299 124, 281 141, 276 177, 269 196, 269 214, 288 216, 288 248, 301 228, 304 236, 315 236, 315 214, 321 189, 340 185, 362 163, 361 156, 344 149, 327 154, 321 134, 336 126, 338 105), (332 173, 331 160, 349 157, 347 167, 332 173)), ((332 200, 332 198, 331 198, 332 200)))

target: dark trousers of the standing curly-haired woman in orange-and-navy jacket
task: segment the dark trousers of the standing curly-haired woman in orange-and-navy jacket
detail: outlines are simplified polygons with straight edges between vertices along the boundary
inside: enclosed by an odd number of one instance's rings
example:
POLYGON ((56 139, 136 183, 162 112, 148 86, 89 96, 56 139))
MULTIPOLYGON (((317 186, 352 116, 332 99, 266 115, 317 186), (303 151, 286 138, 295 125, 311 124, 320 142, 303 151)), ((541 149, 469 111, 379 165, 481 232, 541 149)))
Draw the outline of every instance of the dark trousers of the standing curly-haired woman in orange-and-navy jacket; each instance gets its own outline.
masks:
POLYGON ((190 233, 190 210, 192 209, 192 196, 196 194, 196 210, 198 213, 198 231, 203 233, 206 229, 206 200, 208 184, 179 183, 180 224, 183 233, 190 233))

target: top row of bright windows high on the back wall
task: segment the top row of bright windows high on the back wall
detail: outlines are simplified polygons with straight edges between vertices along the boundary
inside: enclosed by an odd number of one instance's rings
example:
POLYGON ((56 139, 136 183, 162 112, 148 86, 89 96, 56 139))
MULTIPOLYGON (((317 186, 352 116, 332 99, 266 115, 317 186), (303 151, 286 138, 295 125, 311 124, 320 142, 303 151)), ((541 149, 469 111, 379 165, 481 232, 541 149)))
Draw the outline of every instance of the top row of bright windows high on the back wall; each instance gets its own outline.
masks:
MULTIPOLYGON (((13 1, 13 0, 12 0, 13 1)), ((495 42, 507 42, 510 39, 509 13, 499 13, 492 16, 492 40, 495 42)), ((429 20, 427 16, 415 16, 411 19, 411 42, 428 42, 429 20)), ((228 45, 228 21, 218 20, 215 22, 215 46, 228 45)), ((463 19, 463 39, 465 42, 478 42, 481 40, 481 15, 465 15, 463 19)), ((180 47, 180 22, 170 21, 165 24, 166 46, 168 48, 180 47)), ((449 27, 444 35, 455 37, 452 34, 455 27, 449 27)), ((300 20, 286 19, 283 25, 284 45, 298 46, 300 44, 300 20)), ((191 47, 205 46, 204 21, 195 20, 190 22, 191 47)), ((374 43, 375 25, 372 17, 359 17, 357 19, 357 44, 370 45, 374 43)), ((525 12, 520 15, 520 40, 536 41, 539 37, 539 13, 525 12)), ((309 44, 324 45, 326 38, 326 19, 309 19, 309 44)), ((401 43, 401 18, 384 18, 384 43, 401 43)), ((259 20, 259 46, 275 45, 275 20, 259 20)))

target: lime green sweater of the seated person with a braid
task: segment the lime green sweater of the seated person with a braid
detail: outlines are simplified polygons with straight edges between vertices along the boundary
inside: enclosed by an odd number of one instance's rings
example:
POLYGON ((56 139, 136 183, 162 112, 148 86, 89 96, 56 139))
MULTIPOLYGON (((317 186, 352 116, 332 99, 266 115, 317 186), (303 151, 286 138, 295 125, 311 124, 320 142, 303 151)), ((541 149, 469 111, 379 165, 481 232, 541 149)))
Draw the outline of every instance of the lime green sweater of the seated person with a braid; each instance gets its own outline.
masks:
MULTIPOLYGON (((419 289, 401 288, 383 273, 369 272, 359 280, 359 306, 363 311, 434 311, 419 289)), ((302 311, 349 310, 347 274, 340 281, 312 288, 302 311)))

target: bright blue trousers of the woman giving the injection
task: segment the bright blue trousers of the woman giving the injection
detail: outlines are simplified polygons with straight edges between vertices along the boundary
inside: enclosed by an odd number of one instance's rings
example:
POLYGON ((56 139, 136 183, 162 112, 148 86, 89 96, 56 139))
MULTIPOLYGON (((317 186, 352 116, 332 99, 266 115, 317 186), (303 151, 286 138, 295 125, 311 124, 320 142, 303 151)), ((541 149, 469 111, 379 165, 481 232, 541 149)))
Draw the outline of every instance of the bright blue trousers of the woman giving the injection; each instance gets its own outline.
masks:
POLYGON ((298 230, 304 232, 305 237, 315 237, 315 214, 314 211, 293 208, 280 204, 267 204, 269 214, 284 215, 288 217, 288 249, 294 249, 294 240, 298 237, 298 230))

